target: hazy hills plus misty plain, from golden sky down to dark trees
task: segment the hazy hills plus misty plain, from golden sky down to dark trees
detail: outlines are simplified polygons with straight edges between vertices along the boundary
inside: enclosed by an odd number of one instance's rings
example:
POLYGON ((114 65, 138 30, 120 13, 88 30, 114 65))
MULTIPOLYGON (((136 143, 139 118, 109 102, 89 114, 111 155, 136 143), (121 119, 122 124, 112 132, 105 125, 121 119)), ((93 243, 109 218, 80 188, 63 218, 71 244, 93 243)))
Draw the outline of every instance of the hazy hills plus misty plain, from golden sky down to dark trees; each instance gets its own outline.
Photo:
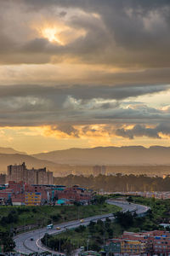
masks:
POLYGON ((170 148, 166 147, 71 148, 34 155, 14 154, 15 150, 10 149, 12 154, 0 154, 0 172, 7 172, 8 165, 23 161, 27 168, 47 167, 59 177, 71 173, 89 175, 93 172, 94 165, 107 166, 109 173, 159 175, 161 172, 170 172, 170 148))

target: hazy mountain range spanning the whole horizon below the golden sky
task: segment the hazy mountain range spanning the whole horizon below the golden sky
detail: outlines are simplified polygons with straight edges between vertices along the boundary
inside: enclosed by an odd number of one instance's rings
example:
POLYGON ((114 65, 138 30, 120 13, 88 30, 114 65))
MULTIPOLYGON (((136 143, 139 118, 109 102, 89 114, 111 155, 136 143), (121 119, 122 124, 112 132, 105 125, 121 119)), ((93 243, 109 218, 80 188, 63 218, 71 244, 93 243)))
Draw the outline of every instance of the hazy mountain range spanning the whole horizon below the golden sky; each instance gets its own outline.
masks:
POLYGON ((71 170, 71 166, 168 166, 170 147, 70 148, 32 155, 13 148, 0 148, 0 172, 6 172, 8 165, 20 164, 23 161, 28 168, 46 166, 53 172, 65 172, 71 170))

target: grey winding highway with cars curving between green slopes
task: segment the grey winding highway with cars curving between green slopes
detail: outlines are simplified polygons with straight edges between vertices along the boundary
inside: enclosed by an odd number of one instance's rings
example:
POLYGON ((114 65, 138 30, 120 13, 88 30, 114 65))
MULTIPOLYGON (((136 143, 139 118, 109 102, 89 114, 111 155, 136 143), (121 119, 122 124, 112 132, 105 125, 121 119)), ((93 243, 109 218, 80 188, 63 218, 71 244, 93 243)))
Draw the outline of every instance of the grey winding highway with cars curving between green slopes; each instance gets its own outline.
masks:
MULTIPOLYGON (((150 207, 145 207, 142 205, 137 205, 137 204, 129 204, 126 201, 113 201, 113 200, 108 200, 108 204, 116 205, 117 207, 122 207, 122 212, 130 211, 134 212, 136 211, 139 216, 147 212, 150 207)), ((63 224, 56 224, 54 225, 54 228, 52 230, 47 230, 47 228, 42 228, 39 230, 31 230, 26 233, 22 233, 20 235, 17 235, 14 237, 15 241, 15 250, 18 253, 42 253, 42 252, 51 252, 51 253, 56 253, 54 251, 51 251, 47 249, 47 247, 43 246, 41 243, 41 238, 45 235, 45 233, 48 233, 49 235, 54 235, 54 234, 59 234, 60 232, 65 231, 66 229, 74 229, 78 227, 79 225, 88 225, 90 221, 97 221, 98 219, 105 220, 105 218, 114 218, 112 213, 105 214, 105 215, 97 215, 94 217, 89 217, 89 218, 84 218, 83 222, 80 220, 73 220, 67 223, 63 224), (60 230, 56 230, 56 228, 59 227, 60 230)), ((60 253, 62 254, 62 253, 60 253)))

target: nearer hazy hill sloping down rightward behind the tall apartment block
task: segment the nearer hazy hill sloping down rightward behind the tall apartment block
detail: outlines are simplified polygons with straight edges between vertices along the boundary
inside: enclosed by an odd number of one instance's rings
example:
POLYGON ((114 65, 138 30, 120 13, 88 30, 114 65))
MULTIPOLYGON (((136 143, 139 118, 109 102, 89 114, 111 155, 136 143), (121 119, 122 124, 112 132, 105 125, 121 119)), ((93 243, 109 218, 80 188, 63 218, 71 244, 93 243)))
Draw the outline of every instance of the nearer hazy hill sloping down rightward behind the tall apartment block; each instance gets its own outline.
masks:
POLYGON ((0 154, 0 172, 7 172, 7 166, 26 162, 27 168, 47 167, 49 171, 57 171, 59 166, 48 160, 38 160, 27 154, 0 154))

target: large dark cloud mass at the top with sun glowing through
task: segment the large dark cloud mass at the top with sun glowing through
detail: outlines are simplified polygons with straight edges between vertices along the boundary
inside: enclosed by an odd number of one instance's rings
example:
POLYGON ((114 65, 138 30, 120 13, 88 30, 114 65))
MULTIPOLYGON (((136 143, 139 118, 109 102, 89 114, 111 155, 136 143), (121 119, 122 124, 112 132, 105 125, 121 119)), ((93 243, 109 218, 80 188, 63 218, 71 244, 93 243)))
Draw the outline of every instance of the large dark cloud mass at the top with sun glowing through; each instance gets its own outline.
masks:
POLYGON ((168 1, 7 0, 0 12, 1 63, 170 65, 168 1))

